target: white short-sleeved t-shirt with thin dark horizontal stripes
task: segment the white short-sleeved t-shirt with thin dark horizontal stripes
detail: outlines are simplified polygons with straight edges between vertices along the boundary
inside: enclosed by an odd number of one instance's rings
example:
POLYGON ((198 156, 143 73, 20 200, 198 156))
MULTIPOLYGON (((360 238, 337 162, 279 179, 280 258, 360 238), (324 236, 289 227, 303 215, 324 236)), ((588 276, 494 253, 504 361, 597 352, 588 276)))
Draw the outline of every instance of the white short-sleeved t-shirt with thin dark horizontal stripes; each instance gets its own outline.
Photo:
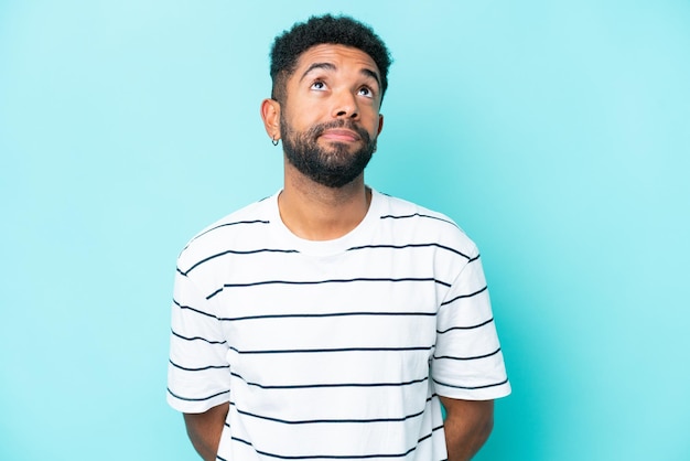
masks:
POLYGON ((180 255, 168 400, 229 401, 218 460, 444 460, 438 396, 509 393, 478 250, 442 214, 373 191, 312 242, 276 194, 180 255))

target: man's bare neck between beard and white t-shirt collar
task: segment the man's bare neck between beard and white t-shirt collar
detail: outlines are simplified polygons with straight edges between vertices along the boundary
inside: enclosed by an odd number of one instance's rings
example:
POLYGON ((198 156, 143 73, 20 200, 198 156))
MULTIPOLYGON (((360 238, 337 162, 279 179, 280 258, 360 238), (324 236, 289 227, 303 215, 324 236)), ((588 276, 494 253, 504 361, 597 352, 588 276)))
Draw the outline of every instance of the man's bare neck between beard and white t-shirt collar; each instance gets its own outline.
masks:
POLYGON ((298 237, 332 240, 357 227, 366 216, 371 191, 365 186, 364 175, 343 187, 326 187, 285 167, 278 208, 285 226, 298 237))

